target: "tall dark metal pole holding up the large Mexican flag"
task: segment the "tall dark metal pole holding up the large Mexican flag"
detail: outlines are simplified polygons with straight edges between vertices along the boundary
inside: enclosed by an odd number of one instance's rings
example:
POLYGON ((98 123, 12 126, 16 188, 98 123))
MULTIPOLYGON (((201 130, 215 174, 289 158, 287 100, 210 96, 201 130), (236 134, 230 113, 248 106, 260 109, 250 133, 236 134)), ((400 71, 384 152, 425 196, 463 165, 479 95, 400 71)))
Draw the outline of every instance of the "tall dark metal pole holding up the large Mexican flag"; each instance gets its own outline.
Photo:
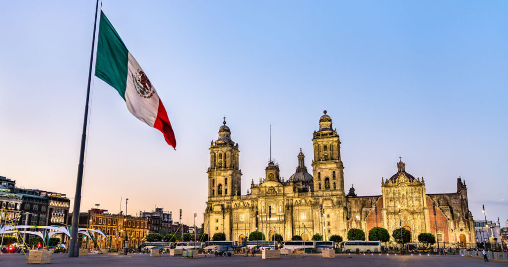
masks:
POLYGON ((92 64, 93 64, 93 48, 95 45, 95 34, 97 28, 97 11, 99 8, 99 0, 96 3, 96 15, 93 21, 93 37, 92 37, 92 49, 90 51, 90 67, 88 69, 88 86, 86 87, 86 102, 85 102, 85 114, 83 118, 83 133, 81 134, 81 151, 79 153, 79 165, 78 165, 78 178, 76 181, 76 195, 74 196, 74 209, 72 214, 72 228, 71 228, 71 240, 69 241, 69 257, 79 256, 79 242, 78 242, 78 221, 79 221, 79 206, 81 205, 81 186, 83 184, 83 168, 84 168, 84 157, 85 157, 85 146, 86 146, 86 126, 88 122, 88 102, 90 99, 90 80, 92 75, 92 64))

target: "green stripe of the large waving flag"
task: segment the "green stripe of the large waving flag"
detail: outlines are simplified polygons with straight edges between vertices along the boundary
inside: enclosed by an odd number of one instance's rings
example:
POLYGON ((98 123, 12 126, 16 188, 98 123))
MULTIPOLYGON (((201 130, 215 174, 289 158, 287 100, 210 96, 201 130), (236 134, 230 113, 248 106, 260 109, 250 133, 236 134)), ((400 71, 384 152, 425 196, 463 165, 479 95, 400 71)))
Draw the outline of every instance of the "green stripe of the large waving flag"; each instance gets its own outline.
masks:
POLYGON ((97 43, 96 76, 118 91, 125 100, 129 50, 101 11, 99 41, 97 43))

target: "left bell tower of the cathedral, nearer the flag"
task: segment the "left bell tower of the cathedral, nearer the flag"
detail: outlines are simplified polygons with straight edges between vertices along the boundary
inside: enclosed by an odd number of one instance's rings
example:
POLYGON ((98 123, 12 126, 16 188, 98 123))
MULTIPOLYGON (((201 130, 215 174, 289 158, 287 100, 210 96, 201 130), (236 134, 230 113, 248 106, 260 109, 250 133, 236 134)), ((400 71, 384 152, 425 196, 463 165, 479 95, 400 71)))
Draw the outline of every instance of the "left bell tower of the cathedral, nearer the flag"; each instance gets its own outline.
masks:
POLYGON ((219 128, 219 138, 210 144, 208 199, 240 195, 241 171, 238 168, 238 143, 231 140, 226 118, 219 128))

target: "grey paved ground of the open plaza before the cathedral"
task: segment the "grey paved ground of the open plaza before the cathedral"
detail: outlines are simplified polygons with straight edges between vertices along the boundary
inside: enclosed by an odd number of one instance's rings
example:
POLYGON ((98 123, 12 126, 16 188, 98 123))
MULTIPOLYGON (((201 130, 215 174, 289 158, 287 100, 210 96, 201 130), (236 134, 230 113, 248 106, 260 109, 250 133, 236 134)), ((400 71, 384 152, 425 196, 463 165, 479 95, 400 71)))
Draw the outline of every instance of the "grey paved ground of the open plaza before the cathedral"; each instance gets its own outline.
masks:
MULTIPOLYGON (((0 266, 26 266, 23 254, 0 255, 0 266)), ((463 256, 410 256, 410 255, 337 255, 325 259, 319 255, 282 256, 281 259, 262 259, 257 257, 215 257, 200 255, 198 259, 172 257, 167 254, 161 257, 150 257, 147 254, 97 255, 90 254, 78 258, 69 258, 65 254, 53 254, 50 266, 506 266, 506 263, 484 262, 483 259, 463 256)))

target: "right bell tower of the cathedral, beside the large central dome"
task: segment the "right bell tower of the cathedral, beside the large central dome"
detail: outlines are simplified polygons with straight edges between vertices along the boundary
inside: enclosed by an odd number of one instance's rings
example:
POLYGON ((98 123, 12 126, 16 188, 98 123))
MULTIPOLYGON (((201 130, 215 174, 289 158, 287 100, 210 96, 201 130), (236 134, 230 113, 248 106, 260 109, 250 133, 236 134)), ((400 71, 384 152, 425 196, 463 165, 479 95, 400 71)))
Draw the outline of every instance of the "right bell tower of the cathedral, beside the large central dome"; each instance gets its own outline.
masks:
POLYGON ((344 166, 340 160, 340 140, 332 128, 332 118, 325 114, 319 119, 319 131, 314 131, 314 160, 312 172, 314 192, 332 191, 344 194, 344 166))

